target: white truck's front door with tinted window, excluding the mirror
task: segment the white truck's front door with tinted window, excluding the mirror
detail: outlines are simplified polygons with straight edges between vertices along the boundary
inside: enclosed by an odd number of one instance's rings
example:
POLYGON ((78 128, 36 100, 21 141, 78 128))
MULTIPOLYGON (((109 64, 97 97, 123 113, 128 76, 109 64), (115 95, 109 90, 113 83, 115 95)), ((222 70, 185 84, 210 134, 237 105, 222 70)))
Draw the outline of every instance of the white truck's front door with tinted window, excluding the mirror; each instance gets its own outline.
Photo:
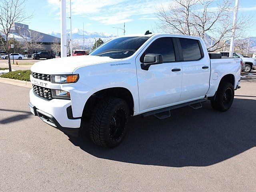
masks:
POLYGON ((182 63, 177 62, 176 40, 157 38, 136 58, 140 111, 178 102, 181 95, 182 63), (162 54, 164 63, 142 70, 145 54, 162 54))

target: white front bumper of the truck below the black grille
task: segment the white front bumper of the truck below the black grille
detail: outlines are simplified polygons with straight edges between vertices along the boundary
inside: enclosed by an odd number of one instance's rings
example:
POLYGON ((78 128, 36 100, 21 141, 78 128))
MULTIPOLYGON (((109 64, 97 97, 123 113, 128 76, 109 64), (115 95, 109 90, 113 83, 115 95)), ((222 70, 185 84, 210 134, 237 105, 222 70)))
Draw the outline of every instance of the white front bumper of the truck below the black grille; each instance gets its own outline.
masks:
POLYGON ((80 118, 72 118, 67 110, 71 106, 70 100, 46 100, 30 90, 30 110, 45 123, 67 133, 77 136, 81 124, 80 118))

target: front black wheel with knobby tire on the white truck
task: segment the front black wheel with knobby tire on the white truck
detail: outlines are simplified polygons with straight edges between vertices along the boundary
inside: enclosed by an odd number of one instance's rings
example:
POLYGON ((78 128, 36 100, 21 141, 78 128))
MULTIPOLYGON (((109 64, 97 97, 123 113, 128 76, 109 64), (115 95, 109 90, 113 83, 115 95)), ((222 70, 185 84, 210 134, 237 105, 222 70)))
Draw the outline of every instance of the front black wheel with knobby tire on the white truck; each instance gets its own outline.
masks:
POLYGON ((127 131, 130 111, 127 103, 119 98, 104 98, 98 103, 90 120, 90 138, 99 146, 118 146, 127 131))

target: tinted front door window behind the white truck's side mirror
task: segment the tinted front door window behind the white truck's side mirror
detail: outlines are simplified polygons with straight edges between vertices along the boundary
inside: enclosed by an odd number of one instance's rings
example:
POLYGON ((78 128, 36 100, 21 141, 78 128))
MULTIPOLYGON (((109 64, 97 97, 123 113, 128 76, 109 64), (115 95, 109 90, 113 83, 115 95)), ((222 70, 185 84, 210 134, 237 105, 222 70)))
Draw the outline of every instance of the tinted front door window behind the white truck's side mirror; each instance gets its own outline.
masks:
POLYGON ((162 54, 164 62, 175 61, 172 38, 159 38, 152 42, 152 44, 147 48, 147 50, 142 55, 141 62, 143 62, 144 56, 149 53, 162 54))

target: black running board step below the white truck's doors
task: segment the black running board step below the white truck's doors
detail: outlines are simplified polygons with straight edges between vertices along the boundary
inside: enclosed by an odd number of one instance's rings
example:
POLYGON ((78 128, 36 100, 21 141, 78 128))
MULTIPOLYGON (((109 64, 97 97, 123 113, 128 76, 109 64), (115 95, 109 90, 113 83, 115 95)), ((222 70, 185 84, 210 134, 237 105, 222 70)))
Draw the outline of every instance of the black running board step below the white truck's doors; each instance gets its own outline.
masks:
POLYGON ((179 104, 179 105, 170 106, 170 107, 166 107, 166 108, 163 108, 163 109, 158 109, 158 110, 146 112, 146 113, 143 113, 141 116, 142 116, 142 118, 144 118, 144 117, 153 115, 154 117, 156 117, 158 119, 165 119, 165 118, 168 118, 168 117, 171 116, 170 110, 178 109, 178 108, 186 107, 186 106, 190 106, 193 109, 199 109, 199 108, 202 108, 202 102, 206 102, 206 100, 207 99, 199 99, 199 100, 195 100, 195 101, 190 101, 190 102, 187 102, 187 103, 182 103, 182 104, 179 104), (193 106, 195 104, 199 104, 199 106, 193 106), (168 112, 168 114, 163 115, 163 116, 158 116, 157 115, 157 114, 160 114, 162 112, 168 112))

